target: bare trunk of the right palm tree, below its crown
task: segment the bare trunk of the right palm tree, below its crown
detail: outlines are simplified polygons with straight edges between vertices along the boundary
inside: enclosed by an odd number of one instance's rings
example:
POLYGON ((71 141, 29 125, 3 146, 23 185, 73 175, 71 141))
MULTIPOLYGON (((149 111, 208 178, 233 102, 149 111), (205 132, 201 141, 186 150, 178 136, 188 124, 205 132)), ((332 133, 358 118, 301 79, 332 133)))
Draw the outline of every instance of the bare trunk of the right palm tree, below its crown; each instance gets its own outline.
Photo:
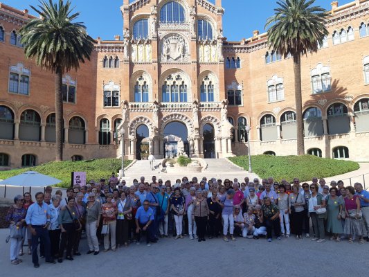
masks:
POLYGON ((295 105, 297 122, 297 154, 305 154, 304 123, 303 123, 303 98, 301 96, 301 60, 300 55, 294 55, 295 75, 295 105))

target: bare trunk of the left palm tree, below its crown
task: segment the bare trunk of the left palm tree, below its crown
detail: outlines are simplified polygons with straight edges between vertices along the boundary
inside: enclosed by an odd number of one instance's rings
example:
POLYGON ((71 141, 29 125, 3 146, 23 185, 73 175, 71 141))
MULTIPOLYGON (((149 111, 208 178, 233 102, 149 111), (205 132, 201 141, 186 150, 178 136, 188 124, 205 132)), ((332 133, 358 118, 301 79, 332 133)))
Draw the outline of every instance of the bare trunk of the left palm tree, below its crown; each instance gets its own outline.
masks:
POLYGON ((63 73, 58 68, 55 75, 55 161, 63 160, 63 73))

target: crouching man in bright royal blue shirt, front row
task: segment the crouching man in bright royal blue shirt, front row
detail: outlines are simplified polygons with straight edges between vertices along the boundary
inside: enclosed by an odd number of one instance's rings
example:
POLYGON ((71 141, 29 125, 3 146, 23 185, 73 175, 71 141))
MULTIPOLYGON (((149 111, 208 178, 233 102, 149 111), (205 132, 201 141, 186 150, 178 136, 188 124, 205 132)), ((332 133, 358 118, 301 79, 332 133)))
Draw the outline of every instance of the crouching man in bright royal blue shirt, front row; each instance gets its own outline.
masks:
POLYGON ((137 233, 137 243, 140 244, 141 235, 145 233, 146 244, 148 247, 151 246, 150 240, 152 240, 152 222, 154 221, 154 211, 149 206, 149 201, 145 200, 143 206, 137 209, 135 216, 136 222, 136 233, 137 233))

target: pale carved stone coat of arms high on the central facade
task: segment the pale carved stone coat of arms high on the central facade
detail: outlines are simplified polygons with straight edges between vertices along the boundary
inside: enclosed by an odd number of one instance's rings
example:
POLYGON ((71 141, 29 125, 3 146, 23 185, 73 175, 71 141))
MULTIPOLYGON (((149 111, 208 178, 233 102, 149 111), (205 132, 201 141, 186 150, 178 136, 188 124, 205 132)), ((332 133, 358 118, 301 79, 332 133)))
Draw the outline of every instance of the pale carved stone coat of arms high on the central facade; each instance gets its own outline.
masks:
POLYGON ((188 56, 188 44, 181 35, 168 35, 161 41, 162 62, 188 62, 188 56))

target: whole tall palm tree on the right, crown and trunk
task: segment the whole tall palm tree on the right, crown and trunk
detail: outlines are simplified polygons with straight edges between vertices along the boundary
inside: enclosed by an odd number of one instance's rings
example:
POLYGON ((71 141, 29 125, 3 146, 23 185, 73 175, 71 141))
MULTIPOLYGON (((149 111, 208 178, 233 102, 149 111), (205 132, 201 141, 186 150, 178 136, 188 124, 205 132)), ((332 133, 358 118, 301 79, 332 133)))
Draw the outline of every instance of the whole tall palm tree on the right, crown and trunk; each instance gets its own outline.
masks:
POLYGON ((302 55, 316 53, 328 35, 325 28, 327 11, 312 6, 315 0, 281 0, 275 14, 267 19, 269 48, 280 55, 294 57, 295 102, 297 121, 297 154, 305 154, 303 136, 303 101, 301 97, 302 55))

